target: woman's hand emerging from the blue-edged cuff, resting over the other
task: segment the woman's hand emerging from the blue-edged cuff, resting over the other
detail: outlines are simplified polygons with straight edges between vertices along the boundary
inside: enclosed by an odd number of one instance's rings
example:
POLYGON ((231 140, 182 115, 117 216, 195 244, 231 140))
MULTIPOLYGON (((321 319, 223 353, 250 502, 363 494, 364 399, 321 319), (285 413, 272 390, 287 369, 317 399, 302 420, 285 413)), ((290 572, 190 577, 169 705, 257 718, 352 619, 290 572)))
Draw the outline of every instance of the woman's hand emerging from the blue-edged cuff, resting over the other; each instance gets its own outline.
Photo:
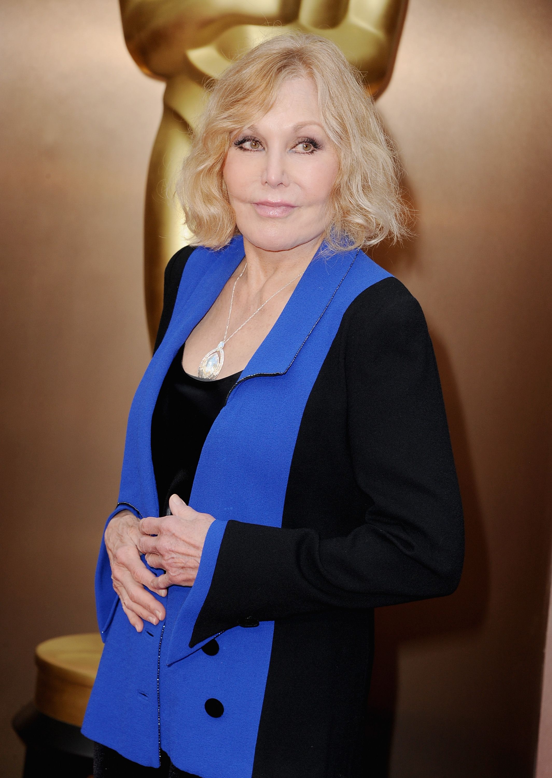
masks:
POLYGON ((176 494, 171 495, 169 508, 172 516, 147 517, 138 524, 138 550, 150 567, 166 571, 155 580, 156 589, 194 584, 205 535, 215 521, 208 513, 197 513, 176 494))

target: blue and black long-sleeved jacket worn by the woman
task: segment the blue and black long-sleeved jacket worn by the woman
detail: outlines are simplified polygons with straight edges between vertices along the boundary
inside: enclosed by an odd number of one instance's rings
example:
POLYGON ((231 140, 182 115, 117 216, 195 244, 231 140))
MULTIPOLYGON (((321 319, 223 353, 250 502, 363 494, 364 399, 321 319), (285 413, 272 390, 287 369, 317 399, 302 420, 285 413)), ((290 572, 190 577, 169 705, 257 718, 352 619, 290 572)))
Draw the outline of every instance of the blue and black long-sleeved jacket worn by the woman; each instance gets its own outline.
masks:
MULTIPOLYGON (((155 401, 242 258, 236 237, 169 263, 114 513, 159 515, 155 401)), ((82 731, 201 778, 361 778, 373 608, 450 594, 463 562, 424 315, 362 251, 313 259, 215 419, 190 505, 216 521, 158 626, 129 624, 100 550, 105 647, 82 731)))

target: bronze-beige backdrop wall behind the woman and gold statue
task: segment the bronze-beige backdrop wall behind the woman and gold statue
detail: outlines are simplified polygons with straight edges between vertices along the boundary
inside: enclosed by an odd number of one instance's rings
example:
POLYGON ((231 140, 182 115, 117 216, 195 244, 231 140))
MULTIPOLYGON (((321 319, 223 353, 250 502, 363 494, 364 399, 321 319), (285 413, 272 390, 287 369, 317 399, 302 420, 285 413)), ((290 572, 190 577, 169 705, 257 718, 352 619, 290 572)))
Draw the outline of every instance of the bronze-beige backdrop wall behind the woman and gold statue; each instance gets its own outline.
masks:
MULTIPOLYGON (((95 628, 93 568, 148 360, 142 199, 162 84, 115 0, 4 0, 2 756, 33 647, 95 628)), ((550 556, 547 0, 411 0, 379 100, 419 214, 377 258, 421 301, 466 508, 444 601, 378 614, 372 733, 392 778, 529 778, 550 556)))

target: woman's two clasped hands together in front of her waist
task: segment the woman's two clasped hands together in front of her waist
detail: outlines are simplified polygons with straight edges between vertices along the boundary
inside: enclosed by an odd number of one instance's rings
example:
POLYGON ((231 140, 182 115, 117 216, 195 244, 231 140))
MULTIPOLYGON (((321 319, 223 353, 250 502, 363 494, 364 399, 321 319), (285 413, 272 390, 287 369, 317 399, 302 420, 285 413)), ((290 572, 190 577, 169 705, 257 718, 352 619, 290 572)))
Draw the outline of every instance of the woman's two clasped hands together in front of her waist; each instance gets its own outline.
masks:
POLYGON ((165 608, 148 591, 166 597, 169 586, 194 584, 208 528, 215 520, 197 513, 173 494, 172 516, 137 519, 129 510, 117 513, 107 525, 105 542, 114 590, 131 625, 141 632, 144 621, 158 624, 165 608), (155 576, 141 561, 165 572, 155 576))

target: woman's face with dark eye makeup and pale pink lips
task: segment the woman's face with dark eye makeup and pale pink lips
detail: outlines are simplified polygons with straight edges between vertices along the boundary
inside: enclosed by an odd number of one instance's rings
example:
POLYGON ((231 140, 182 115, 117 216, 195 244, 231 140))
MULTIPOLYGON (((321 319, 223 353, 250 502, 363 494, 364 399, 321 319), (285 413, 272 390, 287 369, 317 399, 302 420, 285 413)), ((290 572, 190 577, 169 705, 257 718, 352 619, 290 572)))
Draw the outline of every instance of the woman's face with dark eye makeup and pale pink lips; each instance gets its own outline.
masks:
POLYGON ((223 175, 239 231, 264 251, 320 237, 338 159, 311 79, 285 82, 264 117, 239 131, 223 175))

